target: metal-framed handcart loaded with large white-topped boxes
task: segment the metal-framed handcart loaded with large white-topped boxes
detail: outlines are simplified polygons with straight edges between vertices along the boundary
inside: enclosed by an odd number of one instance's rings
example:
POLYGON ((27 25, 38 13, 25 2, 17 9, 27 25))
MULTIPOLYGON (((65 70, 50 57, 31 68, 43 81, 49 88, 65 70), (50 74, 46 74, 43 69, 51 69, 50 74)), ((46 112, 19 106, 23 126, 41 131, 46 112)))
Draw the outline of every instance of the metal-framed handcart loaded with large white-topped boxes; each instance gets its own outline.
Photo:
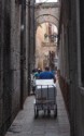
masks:
POLYGON ((38 118, 40 110, 47 114, 53 110, 54 118, 57 116, 56 95, 56 85, 53 79, 36 79, 34 118, 38 118))

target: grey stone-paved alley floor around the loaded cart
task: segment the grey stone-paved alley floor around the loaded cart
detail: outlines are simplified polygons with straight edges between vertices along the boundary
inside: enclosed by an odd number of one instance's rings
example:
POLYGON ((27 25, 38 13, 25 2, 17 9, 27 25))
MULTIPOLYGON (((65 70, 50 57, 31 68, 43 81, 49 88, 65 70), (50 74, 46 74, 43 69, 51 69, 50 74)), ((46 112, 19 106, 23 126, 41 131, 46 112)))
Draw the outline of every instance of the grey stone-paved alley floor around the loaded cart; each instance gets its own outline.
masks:
POLYGON ((40 113, 34 119, 33 96, 28 97, 5 136, 70 136, 68 115, 57 84, 57 118, 40 113))

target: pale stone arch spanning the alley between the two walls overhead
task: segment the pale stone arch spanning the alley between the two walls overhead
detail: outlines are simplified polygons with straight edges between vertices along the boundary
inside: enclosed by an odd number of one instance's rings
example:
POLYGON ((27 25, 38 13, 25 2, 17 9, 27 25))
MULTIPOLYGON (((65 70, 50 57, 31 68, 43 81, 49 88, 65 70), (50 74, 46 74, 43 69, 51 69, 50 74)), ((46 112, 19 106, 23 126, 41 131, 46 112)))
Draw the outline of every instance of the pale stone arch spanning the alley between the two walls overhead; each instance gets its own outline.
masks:
POLYGON ((36 28, 43 22, 52 22, 58 27, 59 21, 59 2, 36 4, 34 11, 36 28))

